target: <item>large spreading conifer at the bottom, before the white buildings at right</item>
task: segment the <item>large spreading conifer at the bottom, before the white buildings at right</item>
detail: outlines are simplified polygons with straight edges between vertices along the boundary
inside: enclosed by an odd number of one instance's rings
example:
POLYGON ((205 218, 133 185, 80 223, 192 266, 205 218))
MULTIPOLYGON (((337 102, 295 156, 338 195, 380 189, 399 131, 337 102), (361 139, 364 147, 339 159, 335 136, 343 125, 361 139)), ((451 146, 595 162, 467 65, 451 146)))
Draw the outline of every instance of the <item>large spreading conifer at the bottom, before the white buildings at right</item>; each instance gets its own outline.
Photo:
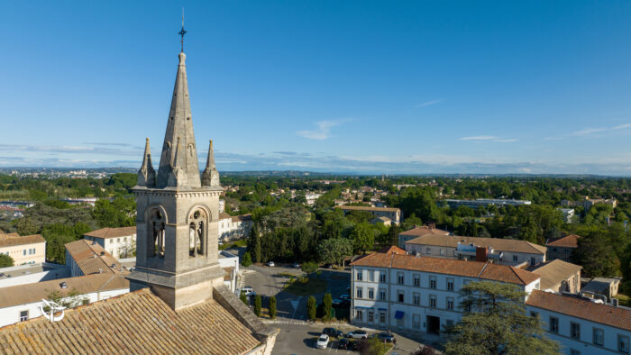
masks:
POLYGON ((557 354, 538 316, 526 315, 526 293, 512 284, 471 282, 462 287, 462 319, 447 329, 447 354, 557 354))

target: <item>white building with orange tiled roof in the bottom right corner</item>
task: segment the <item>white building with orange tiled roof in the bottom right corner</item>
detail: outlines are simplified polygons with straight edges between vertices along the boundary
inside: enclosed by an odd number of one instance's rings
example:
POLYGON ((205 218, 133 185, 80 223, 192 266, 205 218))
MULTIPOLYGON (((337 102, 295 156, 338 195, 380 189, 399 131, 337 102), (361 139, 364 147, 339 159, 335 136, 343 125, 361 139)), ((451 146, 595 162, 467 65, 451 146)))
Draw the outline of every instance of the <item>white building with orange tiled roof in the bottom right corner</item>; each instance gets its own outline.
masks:
POLYGON ((628 354, 631 309, 593 301, 535 290, 526 310, 541 317, 546 335, 561 343, 564 354, 628 354))

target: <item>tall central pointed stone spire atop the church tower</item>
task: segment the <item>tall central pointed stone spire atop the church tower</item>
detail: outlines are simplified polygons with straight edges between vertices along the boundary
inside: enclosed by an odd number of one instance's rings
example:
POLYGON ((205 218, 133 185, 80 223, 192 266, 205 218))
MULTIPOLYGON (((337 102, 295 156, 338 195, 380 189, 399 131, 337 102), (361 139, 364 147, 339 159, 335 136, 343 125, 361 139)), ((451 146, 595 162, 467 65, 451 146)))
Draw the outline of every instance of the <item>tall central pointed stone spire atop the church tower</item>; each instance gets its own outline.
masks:
POLYGON ((179 53, 178 75, 175 79, 167 132, 164 135, 164 144, 160 155, 160 168, 156 187, 201 187, 199 178, 199 165, 197 163, 197 147, 193 121, 191 118, 190 101, 188 99, 186 54, 179 53), (176 146, 179 148, 176 149, 176 146), (175 154, 174 154, 174 151, 175 154), (177 154, 177 157, 176 157, 177 154), (171 178, 179 168, 177 179, 171 178))

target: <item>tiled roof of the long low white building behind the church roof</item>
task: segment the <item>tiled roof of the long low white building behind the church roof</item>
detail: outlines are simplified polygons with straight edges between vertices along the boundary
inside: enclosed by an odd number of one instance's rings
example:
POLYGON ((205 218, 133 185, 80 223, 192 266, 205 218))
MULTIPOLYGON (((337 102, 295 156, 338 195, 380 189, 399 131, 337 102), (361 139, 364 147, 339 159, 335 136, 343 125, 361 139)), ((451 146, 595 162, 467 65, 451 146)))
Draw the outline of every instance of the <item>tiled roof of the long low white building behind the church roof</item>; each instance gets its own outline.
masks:
POLYGON ((59 291, 62 296, 66 296, 73 290, 78 291, 80 295, 85 295, 96 291, 110 291, 122 288, 129 289, 129 280, 121 274, 95 274, 78 278, 58 278, 33 284, 1 287, 0 308, 41 302, 42 298, 48 299, 52 291, 59 291), (62 282, 66 283, 66 288, 61 288, 62 282))

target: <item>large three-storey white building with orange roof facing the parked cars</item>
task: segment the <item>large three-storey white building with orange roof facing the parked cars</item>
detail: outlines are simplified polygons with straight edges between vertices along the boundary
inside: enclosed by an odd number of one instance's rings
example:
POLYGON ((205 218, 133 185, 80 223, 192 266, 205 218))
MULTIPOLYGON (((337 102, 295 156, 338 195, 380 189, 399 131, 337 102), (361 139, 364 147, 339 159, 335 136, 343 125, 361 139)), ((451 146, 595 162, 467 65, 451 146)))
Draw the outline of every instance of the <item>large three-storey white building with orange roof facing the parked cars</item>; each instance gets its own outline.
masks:
POLYGON ((472 281, 491 280, 531 292, 540 277, 506 265, 407 255, 391 247, 352 262, 353 324, 406 332, 440 334, 460 321, 460 289, 472 281))

